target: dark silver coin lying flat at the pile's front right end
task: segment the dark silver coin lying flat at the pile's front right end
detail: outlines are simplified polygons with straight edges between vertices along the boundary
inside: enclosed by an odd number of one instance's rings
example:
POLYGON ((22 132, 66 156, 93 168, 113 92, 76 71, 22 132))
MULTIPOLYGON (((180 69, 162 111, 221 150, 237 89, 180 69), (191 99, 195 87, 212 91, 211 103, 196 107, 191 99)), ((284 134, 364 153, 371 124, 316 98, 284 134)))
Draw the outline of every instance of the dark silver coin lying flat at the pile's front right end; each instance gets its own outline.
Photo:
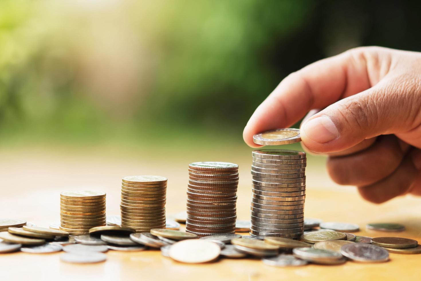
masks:
POLYGON ((387 250, 372 244, 347 244, 342 246, 341 253, 356 262, 386 262, 389 260, 387 250))

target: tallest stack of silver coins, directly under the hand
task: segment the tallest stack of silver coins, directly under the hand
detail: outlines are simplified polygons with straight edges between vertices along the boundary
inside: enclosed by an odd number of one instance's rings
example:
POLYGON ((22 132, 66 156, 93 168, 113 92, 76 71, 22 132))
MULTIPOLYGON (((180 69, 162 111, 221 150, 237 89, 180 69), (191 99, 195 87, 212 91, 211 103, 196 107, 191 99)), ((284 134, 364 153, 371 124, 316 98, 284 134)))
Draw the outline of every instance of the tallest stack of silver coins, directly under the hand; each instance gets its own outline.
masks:
POLYGON ((306 154, 255 150, 250 234, 299 238, 304 230, 306 154))

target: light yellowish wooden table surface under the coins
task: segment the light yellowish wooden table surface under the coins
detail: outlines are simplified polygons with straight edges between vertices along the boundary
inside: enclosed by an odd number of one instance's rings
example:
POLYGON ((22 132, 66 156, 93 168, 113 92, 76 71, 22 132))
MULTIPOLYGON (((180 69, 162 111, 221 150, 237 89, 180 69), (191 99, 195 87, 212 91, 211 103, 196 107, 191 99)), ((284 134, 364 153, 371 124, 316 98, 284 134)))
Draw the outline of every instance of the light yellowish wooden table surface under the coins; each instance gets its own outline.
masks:
MULTIPOLYGON (((187 164, 203 155, 175 157, 171 163, 135 155, 88 152, 46 153, 44 150, 0 151, 0 217, 26 219, 48 227, 59 221, 59 193, 70 189, 107 192, 107 214, 119 214, 120 180, 125 175, 159 174, 168 177, 167 214, 184 211, 187 164)), ((168 155, 167 155, 168 156, 168 155)), ((198 159, 199 158, 199 159, 198 159)), ((214 159, 207 158, 207 159, 214 159)), ((227 153, 221 161, 240 164, 238 219, 249 219, 251 156, 248 151, 227 153), (237 159, 237 161, 236 161, 237 159)), ((307 166, 306 217, 360 225, 361 236, 400 236, 421 240, 421 199, 395 198, 381 205, 362 200, 352 187, 331 182, 324 165, 309 158, 307 166), (369 222, 399 222, 404 232, 384 233, 365 228, 369 222)), ((247 235, 247 234, 243 234, 247 235)), ((107 261, 75 265, 61 262, 61 253, 0 254, 2 280, 420 280, 421 254, 390 254, 378 264, 346 262, 344 265, 306 265, 276 268, 259 259, 229 260, 188 265, 163 257, 160 251, 109 251, 107 261), (17 279, 16 279, 17 278, 17 279)))

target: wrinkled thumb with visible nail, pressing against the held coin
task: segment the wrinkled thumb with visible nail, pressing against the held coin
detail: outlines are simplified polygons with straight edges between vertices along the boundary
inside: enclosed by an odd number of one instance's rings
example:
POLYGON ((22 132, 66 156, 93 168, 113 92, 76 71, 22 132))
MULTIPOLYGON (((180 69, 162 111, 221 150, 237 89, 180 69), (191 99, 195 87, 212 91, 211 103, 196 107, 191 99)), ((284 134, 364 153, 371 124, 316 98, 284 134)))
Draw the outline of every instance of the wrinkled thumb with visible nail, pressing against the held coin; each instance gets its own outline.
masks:
POLYGON ((415 128, 419 125, 416 120, 420 108, 415 91, 394 85, 381 81, 308 118, 301 125, 304 145, 313 152, 332 153, 353 147, 364 139, 415 128))

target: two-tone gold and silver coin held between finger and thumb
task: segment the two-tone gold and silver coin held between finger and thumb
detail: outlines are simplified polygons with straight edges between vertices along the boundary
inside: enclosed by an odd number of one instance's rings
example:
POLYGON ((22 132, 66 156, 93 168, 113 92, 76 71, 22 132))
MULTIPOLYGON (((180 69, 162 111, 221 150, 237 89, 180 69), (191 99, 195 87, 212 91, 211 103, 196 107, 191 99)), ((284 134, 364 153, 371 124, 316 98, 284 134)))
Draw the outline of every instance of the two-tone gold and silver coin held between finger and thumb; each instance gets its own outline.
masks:
POLYGON ((288 145, 301 142, 300 130, 294 128, 276 129, 255 134, 253 142, 258 145, 288 145))

